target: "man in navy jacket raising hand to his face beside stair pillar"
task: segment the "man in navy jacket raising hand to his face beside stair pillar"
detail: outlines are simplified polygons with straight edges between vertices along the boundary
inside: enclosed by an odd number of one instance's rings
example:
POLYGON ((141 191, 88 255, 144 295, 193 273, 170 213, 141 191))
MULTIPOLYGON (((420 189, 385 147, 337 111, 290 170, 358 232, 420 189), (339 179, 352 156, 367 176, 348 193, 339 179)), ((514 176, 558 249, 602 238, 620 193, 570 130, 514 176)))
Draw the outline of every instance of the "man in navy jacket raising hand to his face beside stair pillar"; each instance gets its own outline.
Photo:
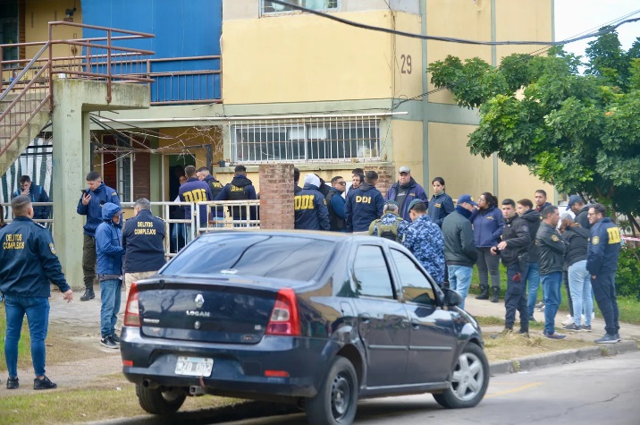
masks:
POLYGON ((87 216, 84 225, 84 243, 82 244, 82 273, 84 275, 85 292, 80 301, 92 300, 96 297, 93 292, 93 281, 96 278, 96 229, 102 223, 102 206, 107 202, 120 205, 118 193, 102 183, 97 171, 87 174, 88 188, 82 191, 78 201, 78 214, 87 216))

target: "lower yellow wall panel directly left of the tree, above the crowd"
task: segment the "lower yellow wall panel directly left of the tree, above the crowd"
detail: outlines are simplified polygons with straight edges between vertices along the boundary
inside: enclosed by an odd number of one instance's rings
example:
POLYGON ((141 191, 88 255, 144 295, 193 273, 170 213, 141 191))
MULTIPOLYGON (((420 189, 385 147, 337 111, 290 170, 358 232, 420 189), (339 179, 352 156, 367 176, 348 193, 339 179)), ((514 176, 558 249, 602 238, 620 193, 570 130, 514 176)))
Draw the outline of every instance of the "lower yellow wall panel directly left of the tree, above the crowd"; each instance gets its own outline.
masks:
POLYGON ((493 158, 475 157, 467 148, 468 135, 475 125, 429 123, 429 173, 425 185, 433 194, 431 181, 442 177, 447 193, 454 200, 464 193, 477 199, 480 193, 493 193, 493 158))

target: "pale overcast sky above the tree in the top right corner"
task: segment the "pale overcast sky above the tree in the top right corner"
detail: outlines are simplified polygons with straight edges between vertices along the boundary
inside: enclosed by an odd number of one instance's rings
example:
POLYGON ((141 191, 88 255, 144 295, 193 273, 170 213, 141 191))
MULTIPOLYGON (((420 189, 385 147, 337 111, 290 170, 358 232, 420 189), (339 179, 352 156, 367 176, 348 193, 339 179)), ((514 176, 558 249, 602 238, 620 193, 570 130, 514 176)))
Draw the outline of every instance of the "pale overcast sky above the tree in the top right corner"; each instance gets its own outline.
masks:
MULTIPOLYGON (((593 32, 604 24, 617 20, 629 13, 628 18, 640 18, 638 0, 555 0, 555 38, 557 41, 572 38, 582 32, 593 32)), ((627 19, 628 19, 627 18, 627 19)), ((622 48, 628 50, 636 38, 640 37, 640 21, 625 23, 618 28, 622 48)), ((585 55, 587 43, 595 38, 587 38, 565 46, 565 50, 576 55, 585 55)))

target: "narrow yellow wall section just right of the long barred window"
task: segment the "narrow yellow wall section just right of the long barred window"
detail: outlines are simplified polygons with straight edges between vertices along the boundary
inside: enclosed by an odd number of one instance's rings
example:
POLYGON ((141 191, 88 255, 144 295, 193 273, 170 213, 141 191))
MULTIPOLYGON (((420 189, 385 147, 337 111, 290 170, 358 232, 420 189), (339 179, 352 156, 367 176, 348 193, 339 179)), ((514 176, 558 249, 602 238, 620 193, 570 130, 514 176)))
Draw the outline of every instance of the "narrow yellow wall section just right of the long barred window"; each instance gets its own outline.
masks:
POLYGON ((425 187, 422 121, 392 120, 392 134, 392 159, 396 170, 400 166, 408 166, 414 180, 425 187))

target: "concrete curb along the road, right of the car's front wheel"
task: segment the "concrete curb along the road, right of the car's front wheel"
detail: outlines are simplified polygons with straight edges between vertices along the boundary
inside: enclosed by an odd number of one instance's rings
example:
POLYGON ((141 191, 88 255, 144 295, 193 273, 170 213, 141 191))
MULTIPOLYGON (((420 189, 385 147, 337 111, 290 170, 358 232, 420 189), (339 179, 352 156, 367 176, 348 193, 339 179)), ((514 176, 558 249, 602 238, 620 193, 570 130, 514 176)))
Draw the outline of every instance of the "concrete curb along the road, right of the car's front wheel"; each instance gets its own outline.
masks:
POLYGON ((636 341, 621 341, 617 344, 602 344, 578 350, 564 350, 521 357, 514 360, 494 361, 489 364, 491 376, 518 373, 522 370, 533 370, 559 364, 575 363, 608 357, 616 354, 631 353, 638 350, 636 341))

